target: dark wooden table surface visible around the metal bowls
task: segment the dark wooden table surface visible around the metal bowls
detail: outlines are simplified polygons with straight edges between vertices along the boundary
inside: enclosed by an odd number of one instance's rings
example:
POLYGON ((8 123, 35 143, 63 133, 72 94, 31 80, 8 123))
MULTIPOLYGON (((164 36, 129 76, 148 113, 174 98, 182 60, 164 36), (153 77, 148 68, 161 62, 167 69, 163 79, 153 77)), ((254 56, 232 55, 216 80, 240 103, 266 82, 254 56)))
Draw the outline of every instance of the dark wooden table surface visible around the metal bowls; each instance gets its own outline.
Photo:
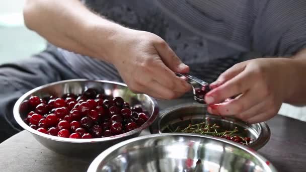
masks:
MULTIPOLYGON (((186 103, 159 102, 161 109, 186 103)), ((271 138, 258 152, 278 171, 306 171, 306 122, 277 115, 267 121, 271 138)), ((141 135, 148 134, 143 131, 141 135)), ((0 144, 0 171, 86 171, 91 159, 71 158, 42 146, 27 131, 0 144)))

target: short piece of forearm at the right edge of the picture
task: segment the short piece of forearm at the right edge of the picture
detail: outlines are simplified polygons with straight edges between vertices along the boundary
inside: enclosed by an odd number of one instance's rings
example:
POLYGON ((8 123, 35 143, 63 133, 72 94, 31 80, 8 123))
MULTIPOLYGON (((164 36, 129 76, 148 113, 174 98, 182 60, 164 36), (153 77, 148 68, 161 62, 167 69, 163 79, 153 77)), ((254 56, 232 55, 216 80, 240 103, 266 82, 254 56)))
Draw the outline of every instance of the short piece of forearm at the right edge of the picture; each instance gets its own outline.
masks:
POLYGON ((292 93, 285 100, 285 102, 296 106, 305 106, 306 105, 306 49, 299 51, 291 58, 292 58, 292 66, 294 71, 292 74, 292 78, 290 78, 290 80, 292 80, 292 82, 294 83, 292 83, 292 88, 288 88, 292 91, 292 93))

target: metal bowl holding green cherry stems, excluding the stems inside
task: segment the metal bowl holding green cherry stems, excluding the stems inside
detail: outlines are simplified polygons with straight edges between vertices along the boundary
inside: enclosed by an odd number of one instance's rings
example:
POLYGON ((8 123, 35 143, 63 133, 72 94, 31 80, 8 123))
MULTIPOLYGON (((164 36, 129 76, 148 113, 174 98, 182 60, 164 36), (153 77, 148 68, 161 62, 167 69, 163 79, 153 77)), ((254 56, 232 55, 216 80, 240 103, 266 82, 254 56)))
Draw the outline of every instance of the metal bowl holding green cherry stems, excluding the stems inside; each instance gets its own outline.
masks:
POLYGON ((200 123, 203 118, 209 117, 210 124, 217 124, 220 128, 231 131, 238 128, 238 135, 251 137, 253 141, 248 146, 258 150, 270 139, 270 129, 266 123, 247 124, 231 117, 211 115, 206 111, 206 105, 188 103, 168 108, 160 113, 159 119, 151 126, 151 133, 169 133, 167 125, 174 129, 178 126, 187 127, 192 119, 193 123, 200 123))

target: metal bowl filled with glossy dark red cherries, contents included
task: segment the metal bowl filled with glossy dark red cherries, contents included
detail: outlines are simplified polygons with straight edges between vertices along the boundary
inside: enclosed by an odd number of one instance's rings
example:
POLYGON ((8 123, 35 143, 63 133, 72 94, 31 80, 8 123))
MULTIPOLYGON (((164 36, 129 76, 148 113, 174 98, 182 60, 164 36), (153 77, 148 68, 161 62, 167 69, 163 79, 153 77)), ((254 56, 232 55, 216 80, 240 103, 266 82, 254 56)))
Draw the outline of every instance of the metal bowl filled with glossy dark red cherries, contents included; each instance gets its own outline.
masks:
POLYGON ((72 79, 33 89, 15 104, 18 124, 45 147, 69 156, 95 156, 136 137, 157 118, 158 106, 125 84, 72 79))

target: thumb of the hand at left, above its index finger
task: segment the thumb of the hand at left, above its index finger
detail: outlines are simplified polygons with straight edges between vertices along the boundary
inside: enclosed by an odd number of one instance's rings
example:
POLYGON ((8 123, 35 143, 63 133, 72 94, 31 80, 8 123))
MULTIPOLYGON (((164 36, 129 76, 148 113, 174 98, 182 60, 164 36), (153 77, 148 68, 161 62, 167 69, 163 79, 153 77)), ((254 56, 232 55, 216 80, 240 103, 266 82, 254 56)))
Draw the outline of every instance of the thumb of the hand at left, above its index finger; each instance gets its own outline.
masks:
POLYGON ((159 53, 162 61, 169 67, 172 71, 177 73, 188 73, 189 66, 184 64, 181 59, 175 54, 175 52, 169 47, 169 45, 164 41, 159 41, 154 44, 157 52, 159 53))

